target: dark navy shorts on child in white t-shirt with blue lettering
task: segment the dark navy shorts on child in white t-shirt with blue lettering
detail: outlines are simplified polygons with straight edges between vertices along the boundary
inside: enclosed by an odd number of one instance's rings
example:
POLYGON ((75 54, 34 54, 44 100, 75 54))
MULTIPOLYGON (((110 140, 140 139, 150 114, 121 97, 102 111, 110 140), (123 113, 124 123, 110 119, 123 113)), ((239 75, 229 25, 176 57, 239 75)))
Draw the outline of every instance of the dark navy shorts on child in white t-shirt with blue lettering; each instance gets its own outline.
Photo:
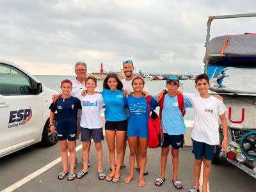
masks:
POLYGON ((81 141, 90 141, 91 136, 93 138, 94 143, 100 143, 104 140, 102 128, 98 129, 88 129, 81 127, 81 141))

